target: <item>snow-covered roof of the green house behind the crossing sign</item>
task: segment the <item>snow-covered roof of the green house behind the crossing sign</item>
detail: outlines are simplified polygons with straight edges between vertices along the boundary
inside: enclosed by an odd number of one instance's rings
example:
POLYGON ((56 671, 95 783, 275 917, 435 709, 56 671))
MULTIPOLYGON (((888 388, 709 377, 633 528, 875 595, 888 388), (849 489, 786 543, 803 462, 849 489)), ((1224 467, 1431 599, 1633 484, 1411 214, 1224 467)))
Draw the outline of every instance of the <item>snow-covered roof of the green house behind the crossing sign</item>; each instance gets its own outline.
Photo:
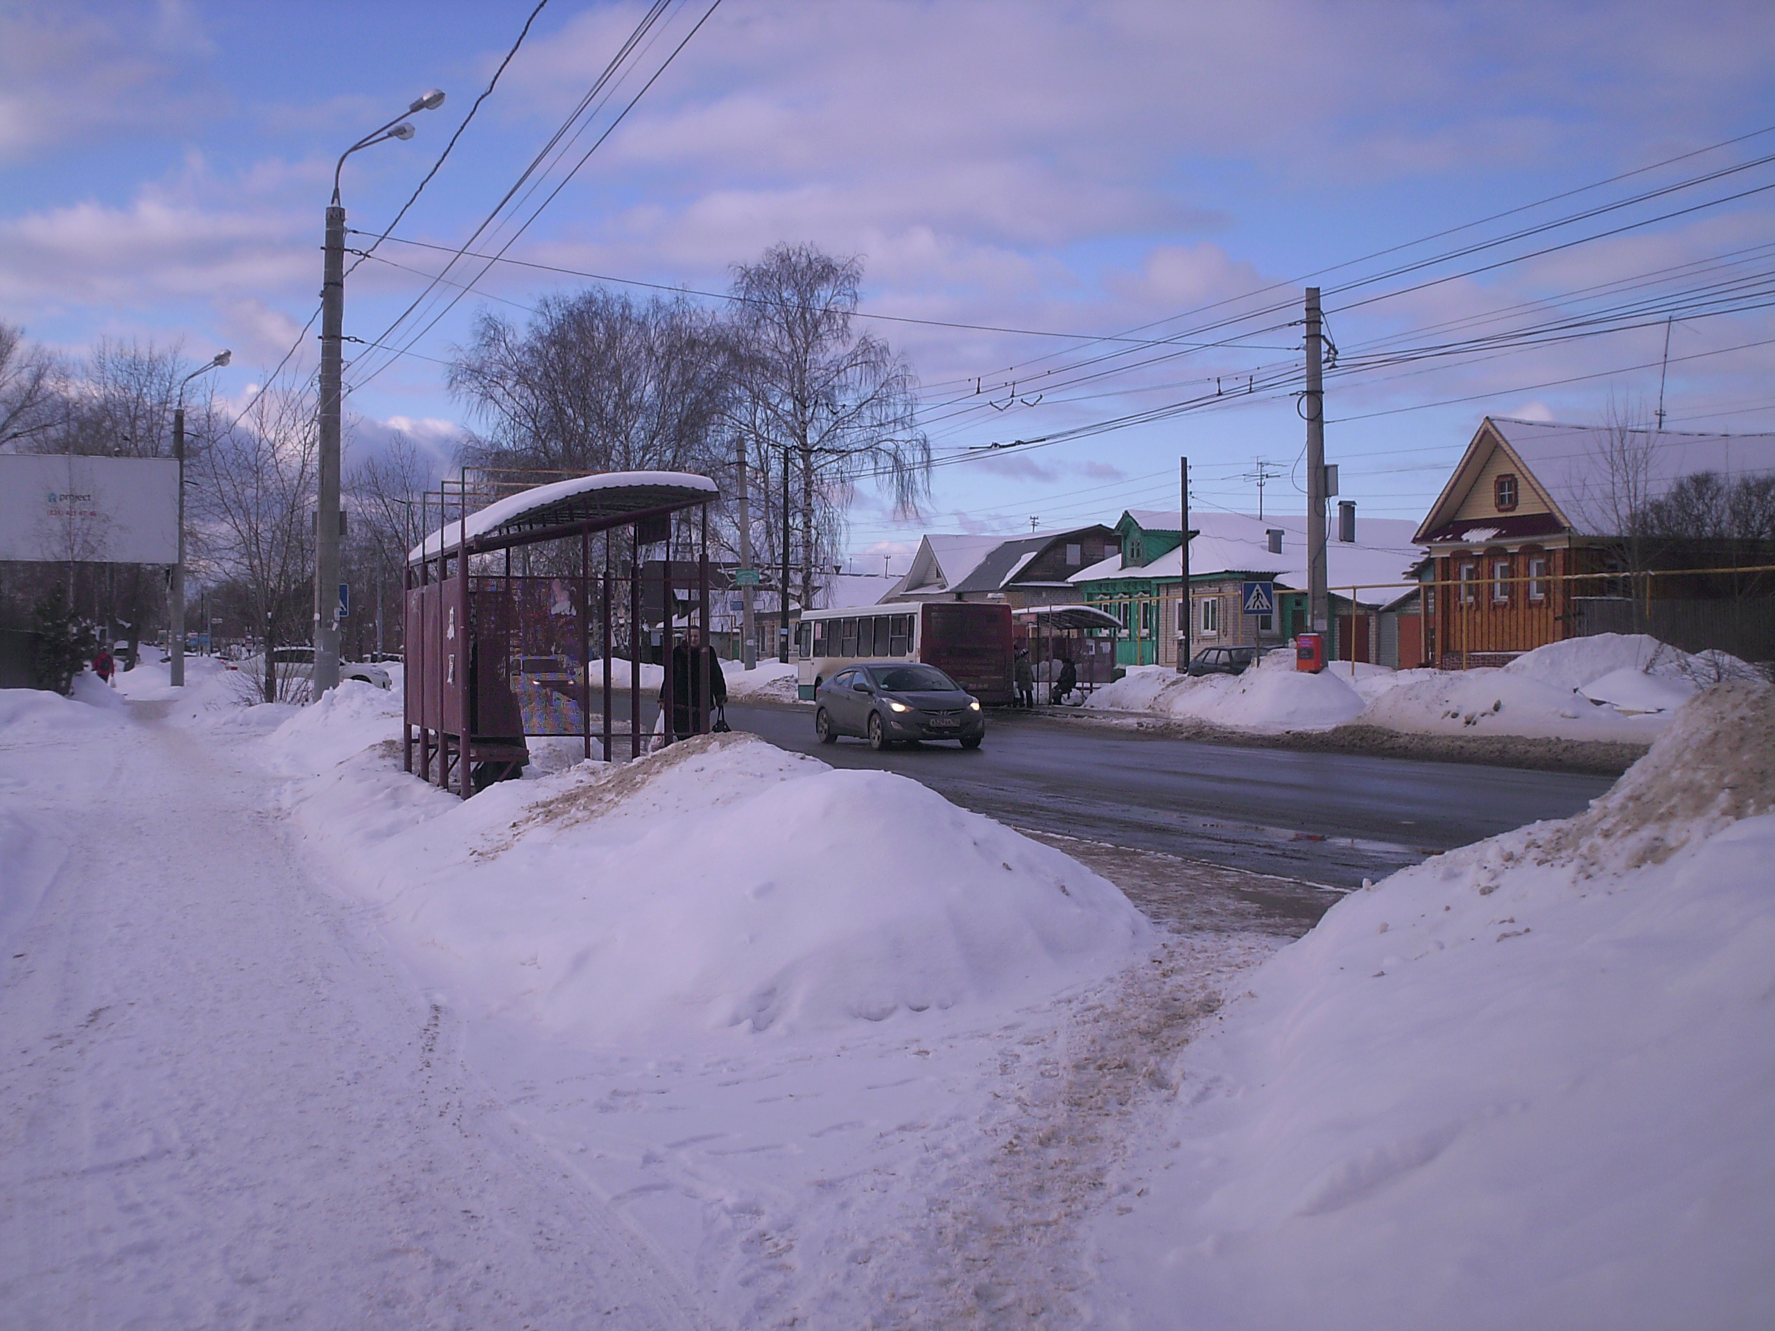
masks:
MULTIPOLYGON (((1179 527, 1179 513, 1157 515, 1143 509, 1148 516, 1164 516, 1172 531, 1179 527)), ((1141 513, 1132 513, 1134 522, 1147 527, 1141 513)), ((1189 543, 1189 577, 1251 575, 1274 579, 1294 589, 1306 587, 1306 516, 1290 513, 1287 516, 1258 518, 1251 513, 1191 513, 1189 525, 1200 534, 1189 543), (1282 554, 1269 552, 1267 532, 1282 532, 1282 554)), ((1356 539, 1326 541, 1326 571, 1331 591, 1347 587, 1395 587, 1408 582, 1408 570, 1424 557, 1413 538, 1415 522, 1400 518, 1358 518, 1356 539)), ((1163 531, 1163 522, 1154 522, 1148 531, 1163 531)), ((1175 579, 1182 577, 1182 552, 1166 550, 1148 564, 1122 568, 1120 555, 1104 559, 1099 564, 1074 573, 1074 586, 1085 582, 1102 582, 1108 579, 1175 579)), ((1360 596, 1361 602, 1392 600, 1393 595, 1360 596)))

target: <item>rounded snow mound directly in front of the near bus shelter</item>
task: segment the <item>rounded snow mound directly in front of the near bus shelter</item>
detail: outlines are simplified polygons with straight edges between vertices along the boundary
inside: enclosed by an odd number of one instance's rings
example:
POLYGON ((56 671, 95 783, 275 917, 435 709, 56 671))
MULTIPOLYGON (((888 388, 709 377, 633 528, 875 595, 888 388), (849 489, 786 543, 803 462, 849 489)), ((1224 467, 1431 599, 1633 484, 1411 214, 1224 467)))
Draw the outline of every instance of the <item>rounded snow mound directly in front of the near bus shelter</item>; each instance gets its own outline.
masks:
POLYGON ((390 752, 296 783, 298 822, 454 1003, 570 1038, 1028 1001, 1125 965, 1148 933, 1056 850, 744 733, 467 802, 390 752))

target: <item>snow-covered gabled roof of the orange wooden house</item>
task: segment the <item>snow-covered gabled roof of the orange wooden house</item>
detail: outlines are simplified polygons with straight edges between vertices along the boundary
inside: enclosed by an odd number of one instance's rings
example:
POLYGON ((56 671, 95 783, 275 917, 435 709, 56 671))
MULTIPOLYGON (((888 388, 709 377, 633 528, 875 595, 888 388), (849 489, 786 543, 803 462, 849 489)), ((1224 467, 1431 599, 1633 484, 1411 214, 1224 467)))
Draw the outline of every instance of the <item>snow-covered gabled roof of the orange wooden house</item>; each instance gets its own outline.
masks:
MULTIPOLYGON (((1615 527, 1628 499, 1656 499, 1681 477, 1718 472, 1725 477, 1775 472, 1775 435, 1700 435, 1676 429, 1566 426, 1493 415, 1480 422, 1448 484, 1418 527, 1418 539, 1480 539, 1454 532, 1450 524, 1480 479, 1493 451, 1502 447, 1528 472, 1526 481, 1546 497, 1557 522, 1551 531, 1582 536, 1619 536, 1615 527), (1626 472, 1642 476, 1626 477, 1626 472)), ((1471 522, 1471 527, 1498 522, 1471 522)), ((1550 534, 1550 532, 1535 532, 1550 534)))

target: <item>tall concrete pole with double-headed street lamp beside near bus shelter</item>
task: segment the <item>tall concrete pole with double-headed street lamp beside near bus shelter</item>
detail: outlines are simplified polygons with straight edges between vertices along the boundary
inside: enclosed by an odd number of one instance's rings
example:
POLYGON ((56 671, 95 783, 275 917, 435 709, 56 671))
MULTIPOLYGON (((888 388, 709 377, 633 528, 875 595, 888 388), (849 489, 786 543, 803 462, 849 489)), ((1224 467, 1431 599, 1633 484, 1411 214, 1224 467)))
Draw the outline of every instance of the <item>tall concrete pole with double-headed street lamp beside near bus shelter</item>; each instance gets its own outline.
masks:
POLYGON ((437 110, 444 94, 431 89, 405 114, 359 138, 339 154, 334 167, 334 193, 327 206, 327 245, 321 275, 321 419, 320 419, 320 504, 314 515, 314 678, 318 697, 339 687, 339 538, 344 525, 339 511, 339 396, 344 378, 344 208, 339 204, 339 172, 344 160, 371 144, 412 138, 406 115, 437 110))

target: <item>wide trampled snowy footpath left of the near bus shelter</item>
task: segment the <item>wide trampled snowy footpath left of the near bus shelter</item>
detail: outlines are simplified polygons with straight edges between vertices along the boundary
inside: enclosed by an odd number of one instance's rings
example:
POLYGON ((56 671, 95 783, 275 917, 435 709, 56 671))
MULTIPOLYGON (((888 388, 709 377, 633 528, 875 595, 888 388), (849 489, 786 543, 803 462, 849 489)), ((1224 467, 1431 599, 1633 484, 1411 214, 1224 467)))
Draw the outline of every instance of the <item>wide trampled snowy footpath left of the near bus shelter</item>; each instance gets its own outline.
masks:
POLYGON ((705 1326, 217 752, 0 745, 66 847, 0 957, 0 1324, 705 1326))

